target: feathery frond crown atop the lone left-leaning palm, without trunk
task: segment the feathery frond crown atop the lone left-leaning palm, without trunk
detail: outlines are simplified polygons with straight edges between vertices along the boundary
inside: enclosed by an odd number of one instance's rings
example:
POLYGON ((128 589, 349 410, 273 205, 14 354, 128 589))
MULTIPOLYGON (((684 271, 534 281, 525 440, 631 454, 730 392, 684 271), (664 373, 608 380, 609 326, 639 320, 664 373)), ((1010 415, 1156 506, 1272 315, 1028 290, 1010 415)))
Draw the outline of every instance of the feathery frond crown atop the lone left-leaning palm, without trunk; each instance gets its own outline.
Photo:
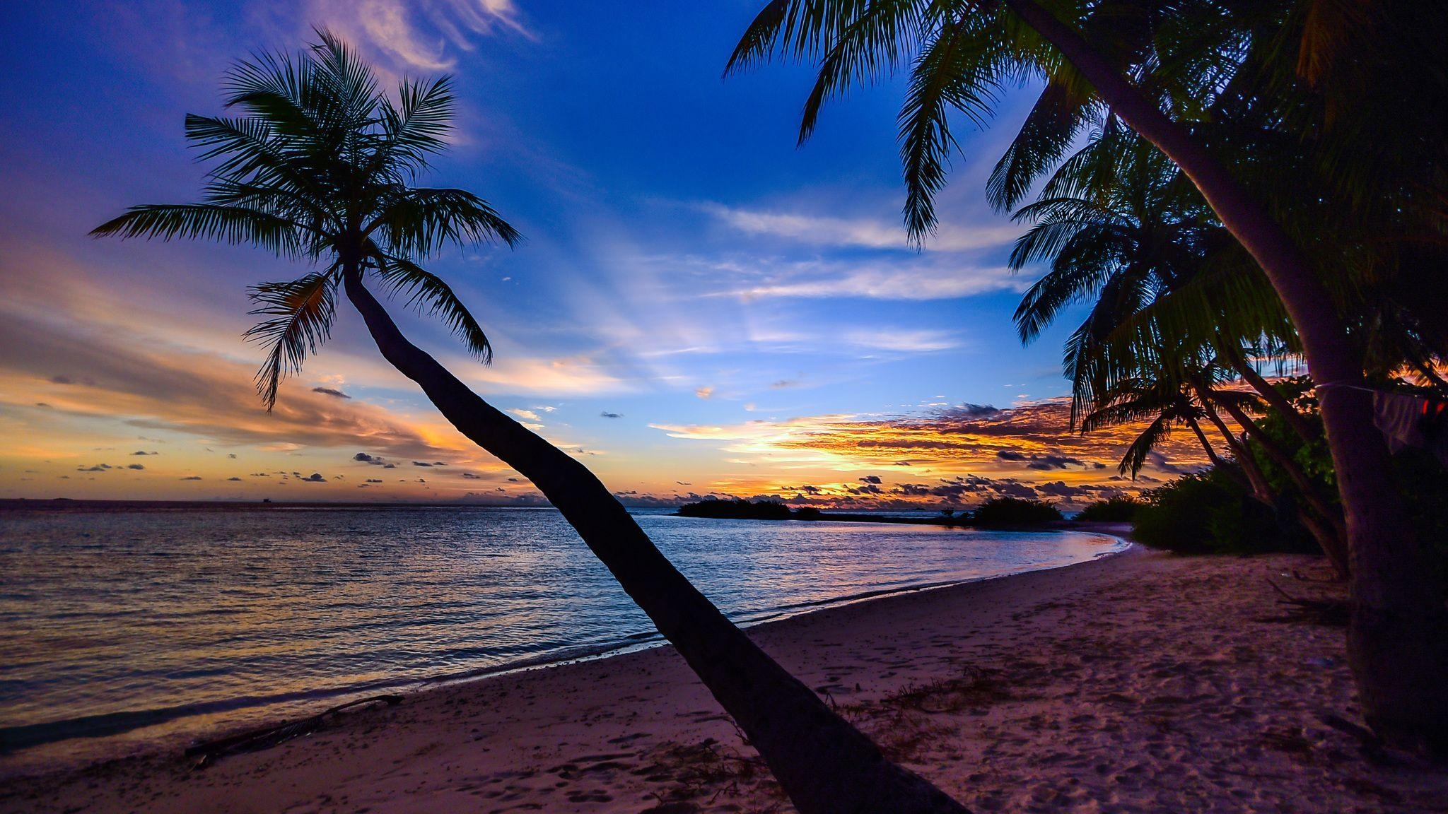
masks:
POLYGON ((394 101, 340 39, 317 35, 295 56, 264 54, 227 72, 226 107, 245 116, 187 116, 200 159, 217 162, 200 203, 135 206, 91 232, 252 243, 317 267, 251 290, 262 319, 246 337, 268 349, 256 374, 268 410, 281 379, 330 335, 346 275, 371 275, 491 362, 478 320, 418 262, 446 245, 521 239, 472 193, 411 185, 446 146, 450 78, 403 80, 394 101))

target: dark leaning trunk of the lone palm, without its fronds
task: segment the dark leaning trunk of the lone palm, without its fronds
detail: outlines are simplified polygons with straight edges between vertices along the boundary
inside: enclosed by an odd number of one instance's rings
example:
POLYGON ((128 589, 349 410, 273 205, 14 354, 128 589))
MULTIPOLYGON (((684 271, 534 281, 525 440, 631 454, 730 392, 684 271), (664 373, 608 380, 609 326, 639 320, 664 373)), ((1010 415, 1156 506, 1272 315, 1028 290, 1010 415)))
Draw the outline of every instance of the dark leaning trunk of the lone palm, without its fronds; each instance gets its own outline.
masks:
POLYGON ((345 285, 382 356, 416 381, 462 435, 547 495, 734 717, 801 813, 966 811, 919 775, 886 760, 869 737, 724 618, 588 468, 410 343, 359 274, 348 274, 345 285))

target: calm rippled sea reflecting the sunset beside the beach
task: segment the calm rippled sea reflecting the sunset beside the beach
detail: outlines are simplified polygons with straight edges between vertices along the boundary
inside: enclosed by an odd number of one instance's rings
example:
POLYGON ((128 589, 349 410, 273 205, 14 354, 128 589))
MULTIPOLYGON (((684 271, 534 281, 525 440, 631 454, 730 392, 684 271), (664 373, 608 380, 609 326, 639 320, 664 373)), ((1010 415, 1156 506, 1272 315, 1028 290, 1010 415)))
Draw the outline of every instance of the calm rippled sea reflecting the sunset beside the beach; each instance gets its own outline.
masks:
MULTIPOLYGON (((1122 546, 1087 533, 636 516, 744 624, 1122 546)), ((12 756, 656 639, 553 510, 0 516, 0 750, 12 756)))

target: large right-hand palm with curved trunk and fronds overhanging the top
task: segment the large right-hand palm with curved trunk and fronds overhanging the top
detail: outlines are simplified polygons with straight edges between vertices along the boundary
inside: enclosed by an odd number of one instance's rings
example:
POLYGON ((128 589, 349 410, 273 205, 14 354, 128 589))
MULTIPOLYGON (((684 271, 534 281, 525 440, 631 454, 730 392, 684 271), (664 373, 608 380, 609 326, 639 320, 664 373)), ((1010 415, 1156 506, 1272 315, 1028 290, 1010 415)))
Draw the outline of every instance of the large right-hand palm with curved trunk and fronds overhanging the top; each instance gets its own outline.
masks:
MULTIPOLYGON (((1348 7, 1312 0, 1171 6, 1140 0, 773 0, 740 39, 727 71, 776 54, 818 56, 820 77, 801 125, 804 139, 824 100, 912 59, 901 152, 905 217, 917 239, 934 227, 933 197, 956 146, 948 114, 985 120, 996 94, 1012 81, 1043 78, 1054 97, 1044 100, 1045 110, 1028 127, 1066 133, 1069 143, 1080 122, 1109 110, 1170 158, 1266 274, 1300 336, 1309 368, 1323 382, 1321 414, 1351 543, 1348 653, 1368 724, 1394 743, 1448 750, 1448 692, 1441 691, 1448 674, 1448 610, 1426 576, 1423 547, 1397 492, 1387 445, 1373 424, 1361 348, 1337 307, 1339 298, 1318 272, 1321 264, 1287 227, 1295 210, 1322 209, 1312 194, 1316 190, 1297 197, 1279 191, 1281 203, 1273 206, 1267 191, 1250 187, 1218 154, 1231 139, 1190 116, 1209 109, 1224 84, 1234 93, 1245 90, 1245 98, 1268 100, 1255 107, 1287 127, 1286 142, 1309 129, 1321 135, 1309 158, 1315 171, 1331 177, 1326 187, 1335 194, 1323 200, 1338 206, 1341 220, 1352 220, 1367 204, 1380 220, 1406 211, 1410 217, 1394 220, 1410 222, 1400 242, 1441 246, 1448 223, 1442 169, 1448 151, 1441 138, 1448 113, 1441 49, 1448 12, 1389 0, 1364 6, 1365 20, 1310 13, 1326 6, 1348 7), (1380 58, 1357 56, 1364 52, 1380 58), (1313 85, 1334 90, 1318 93, 1313 85), (1403 88, 1418 85, 1428 90, 1405 94, 1403 88), (1286 90, 1292 104, 1270 103, 1264 88, 1286 90), (1373 122, 1358 126, 1357 113, 1373 122), (1397 114, 1405 126, 1394 132, 1397 114), (1358 155, 1390 158, 1371 161, 1374 172, 1360 172, 1351 169, 1361 164, 1358 155)), ((1267 135, 1277 138, 1281 130, 1267 135)), ((1019 159, 1008 187, 1027 188, 1024 181, 1066 149, 1058 138, 1040 143, 1054 143, 1058 152, 1019 159)))

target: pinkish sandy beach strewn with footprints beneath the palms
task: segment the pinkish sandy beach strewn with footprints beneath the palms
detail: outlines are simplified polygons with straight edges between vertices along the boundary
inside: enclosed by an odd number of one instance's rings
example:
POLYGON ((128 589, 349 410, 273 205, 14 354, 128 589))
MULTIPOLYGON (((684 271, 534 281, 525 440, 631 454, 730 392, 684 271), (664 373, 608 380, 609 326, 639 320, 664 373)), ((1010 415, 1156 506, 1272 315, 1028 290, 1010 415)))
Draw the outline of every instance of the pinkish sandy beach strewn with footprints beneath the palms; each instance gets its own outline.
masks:
MULTIPOLYGON (((976 811, 1448 811, 1361 724, 1318 558, 1128 553, 752 630, 976 811)), ((193 769, 10 776, 0 811, 792 811, 672 649, 442 687, 193 769)))

